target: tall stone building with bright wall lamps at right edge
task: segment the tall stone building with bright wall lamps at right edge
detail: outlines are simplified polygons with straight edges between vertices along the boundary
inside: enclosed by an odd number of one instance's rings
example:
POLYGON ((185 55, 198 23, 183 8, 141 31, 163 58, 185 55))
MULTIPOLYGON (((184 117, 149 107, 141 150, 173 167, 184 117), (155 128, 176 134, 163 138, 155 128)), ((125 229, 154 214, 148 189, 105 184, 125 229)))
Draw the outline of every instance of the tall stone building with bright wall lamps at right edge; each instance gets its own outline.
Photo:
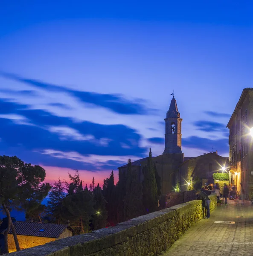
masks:
POLYGON ((230 181, 246 198, 253 191, 253 88, 245 88, 227 124, 230 181), (241 186, 242 185, 242 186, 241 186))

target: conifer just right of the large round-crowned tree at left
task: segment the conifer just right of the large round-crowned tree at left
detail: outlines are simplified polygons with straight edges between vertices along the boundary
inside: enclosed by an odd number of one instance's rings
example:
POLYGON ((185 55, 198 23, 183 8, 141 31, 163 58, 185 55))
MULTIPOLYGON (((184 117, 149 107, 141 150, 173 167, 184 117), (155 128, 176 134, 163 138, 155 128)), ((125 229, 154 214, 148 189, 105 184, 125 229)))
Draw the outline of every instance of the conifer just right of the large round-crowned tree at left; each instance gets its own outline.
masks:
POLYGON ((60 224, 62 220, 62 202, 66 196, 63 183, 64 182, 61 181, 61 178, 59 178, 58 181, 55 181, 52 184, 52 189, 49 192, 49 201, 47 202, 47 212, 49 215, 52 215, 52 217, 55 219, 55 222, 58 224, 60 224))

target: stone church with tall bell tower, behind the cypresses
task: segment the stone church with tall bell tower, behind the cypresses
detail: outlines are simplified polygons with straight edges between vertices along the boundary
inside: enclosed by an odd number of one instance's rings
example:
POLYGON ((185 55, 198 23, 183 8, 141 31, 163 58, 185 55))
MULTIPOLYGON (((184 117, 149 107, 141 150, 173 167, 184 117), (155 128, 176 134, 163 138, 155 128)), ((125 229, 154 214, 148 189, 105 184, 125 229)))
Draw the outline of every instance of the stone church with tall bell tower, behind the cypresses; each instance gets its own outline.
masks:
MULTIPOLYGON (((219 172, 227 164, 228 158, 221 157, 217 151, 198 157, 184 157, 182 153, 181 127, 183 119, 177 108, 176 99, 172 98, 165 121, 165 148, 163 154, 152 157, 157 172, 161 178, 163 197, 173 190, 185 191, 192 189, 195 179, 204 183, 213 183, 212 174, 219 172)), ((139 180, 143 180, 142 168, 147 165, 148 157, 132 162, 132 169, 137 171, 139 180)), ((127 171, 127 165, 119 169, 119 179, 122 172, 127 171)))

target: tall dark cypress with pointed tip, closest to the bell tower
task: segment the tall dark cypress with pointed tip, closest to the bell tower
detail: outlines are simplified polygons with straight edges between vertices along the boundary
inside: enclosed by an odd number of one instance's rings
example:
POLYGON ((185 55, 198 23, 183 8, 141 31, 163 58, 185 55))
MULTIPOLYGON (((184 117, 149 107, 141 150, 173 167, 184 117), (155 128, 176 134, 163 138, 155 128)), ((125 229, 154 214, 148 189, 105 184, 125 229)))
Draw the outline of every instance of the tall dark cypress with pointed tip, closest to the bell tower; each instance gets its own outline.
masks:
POLYGON ((154 212, 157 209, 158 194, 155 169, 152 162, 152 152, 149 149, 148 164, 143 169, 143 205, 146 212, 154 212))

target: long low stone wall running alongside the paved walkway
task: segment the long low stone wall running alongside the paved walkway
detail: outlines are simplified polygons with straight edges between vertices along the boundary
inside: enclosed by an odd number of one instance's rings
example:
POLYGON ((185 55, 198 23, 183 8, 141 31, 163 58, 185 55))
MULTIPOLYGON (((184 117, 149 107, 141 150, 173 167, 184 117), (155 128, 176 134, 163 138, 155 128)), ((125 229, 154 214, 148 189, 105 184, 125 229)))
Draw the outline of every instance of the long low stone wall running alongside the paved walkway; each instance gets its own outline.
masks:
MULTIPOLYGON (((216 196, 210 195, 210 209, 216 196)), ((196 221, 203 218, 202 201, 194 200, 152 212, 115 227, 72 236, 12 256, 156 256, 168 250, 196 221)))

